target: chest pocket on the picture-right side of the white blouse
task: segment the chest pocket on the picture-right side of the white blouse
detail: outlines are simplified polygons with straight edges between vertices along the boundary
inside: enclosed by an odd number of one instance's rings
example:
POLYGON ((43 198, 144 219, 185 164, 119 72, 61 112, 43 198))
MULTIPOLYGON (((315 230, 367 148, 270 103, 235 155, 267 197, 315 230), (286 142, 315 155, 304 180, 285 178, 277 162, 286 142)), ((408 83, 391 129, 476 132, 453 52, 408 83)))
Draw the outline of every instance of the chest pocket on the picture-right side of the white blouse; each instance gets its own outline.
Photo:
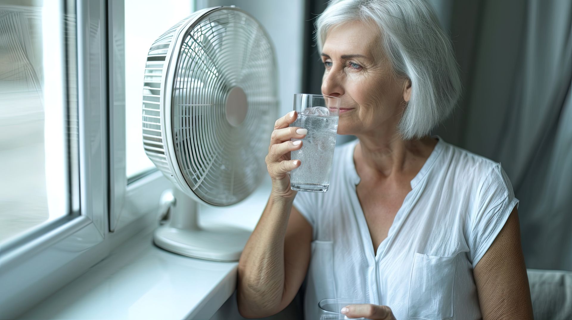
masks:
POLYGON ((426 320, 453 317, 456 255, 415 253, 409 285, 407 316, 426 320))

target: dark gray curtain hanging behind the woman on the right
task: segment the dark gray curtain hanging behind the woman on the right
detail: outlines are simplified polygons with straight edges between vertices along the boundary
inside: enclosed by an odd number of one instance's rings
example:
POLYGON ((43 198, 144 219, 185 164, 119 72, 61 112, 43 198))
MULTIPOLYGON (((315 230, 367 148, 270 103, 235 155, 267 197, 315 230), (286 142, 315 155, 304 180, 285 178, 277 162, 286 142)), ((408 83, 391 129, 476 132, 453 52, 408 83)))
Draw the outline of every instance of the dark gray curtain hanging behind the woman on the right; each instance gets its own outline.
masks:
POLYGON ((572 270, 572 1, 438 5, 464 92, 435 133, 502 163, 527 267, 572 270))

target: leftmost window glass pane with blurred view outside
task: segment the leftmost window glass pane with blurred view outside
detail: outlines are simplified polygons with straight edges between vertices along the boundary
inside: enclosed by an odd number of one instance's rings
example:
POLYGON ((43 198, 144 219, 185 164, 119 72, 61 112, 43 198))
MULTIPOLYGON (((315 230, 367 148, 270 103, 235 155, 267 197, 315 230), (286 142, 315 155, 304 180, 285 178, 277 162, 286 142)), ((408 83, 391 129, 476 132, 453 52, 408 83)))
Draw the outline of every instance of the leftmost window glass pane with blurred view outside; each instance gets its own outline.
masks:
POLYGON ((62 3, 11 3, 0 3, 0 244, 69 213, 62 3))

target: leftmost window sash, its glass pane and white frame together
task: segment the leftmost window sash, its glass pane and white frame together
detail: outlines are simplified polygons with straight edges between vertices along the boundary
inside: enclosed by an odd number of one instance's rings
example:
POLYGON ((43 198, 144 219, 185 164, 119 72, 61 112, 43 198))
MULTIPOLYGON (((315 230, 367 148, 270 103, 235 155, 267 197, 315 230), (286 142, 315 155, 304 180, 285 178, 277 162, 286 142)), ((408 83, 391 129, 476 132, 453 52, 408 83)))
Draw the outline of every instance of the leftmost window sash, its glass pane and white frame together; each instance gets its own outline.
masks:
POLYGON ((109 190, 106 3, 11 2, 18 6, 0 5, 5 318, 84 273, 110 247, 102 246, 109 190))

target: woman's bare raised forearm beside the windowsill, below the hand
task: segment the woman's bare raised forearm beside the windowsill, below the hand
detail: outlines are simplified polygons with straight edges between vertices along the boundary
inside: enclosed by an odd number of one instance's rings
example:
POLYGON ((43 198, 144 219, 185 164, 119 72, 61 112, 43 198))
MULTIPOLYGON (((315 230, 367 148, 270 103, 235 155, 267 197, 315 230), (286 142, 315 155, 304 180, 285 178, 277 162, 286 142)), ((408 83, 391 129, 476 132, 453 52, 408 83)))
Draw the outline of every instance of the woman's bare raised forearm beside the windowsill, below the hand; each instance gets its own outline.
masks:
POLYGON ((293 199, 271 197, 240 256, 237 302, 243 315, 264 317, 284 292, 284 237, 293 199))

